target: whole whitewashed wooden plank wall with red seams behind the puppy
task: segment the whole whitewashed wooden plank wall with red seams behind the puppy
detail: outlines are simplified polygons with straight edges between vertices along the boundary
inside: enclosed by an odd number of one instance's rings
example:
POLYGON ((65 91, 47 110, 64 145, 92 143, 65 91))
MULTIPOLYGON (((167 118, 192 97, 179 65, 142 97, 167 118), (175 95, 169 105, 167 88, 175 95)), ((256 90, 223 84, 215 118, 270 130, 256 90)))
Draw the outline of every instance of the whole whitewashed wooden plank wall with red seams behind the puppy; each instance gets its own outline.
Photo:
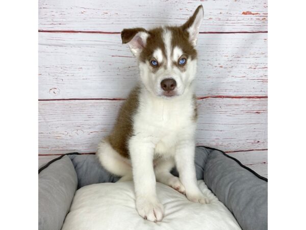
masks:
POLYGON ((267 176, 267 1, 39 0, 39 164, 95 152, 138 78, 123 28, 181 25, 202 4, 197 145, 267 176))

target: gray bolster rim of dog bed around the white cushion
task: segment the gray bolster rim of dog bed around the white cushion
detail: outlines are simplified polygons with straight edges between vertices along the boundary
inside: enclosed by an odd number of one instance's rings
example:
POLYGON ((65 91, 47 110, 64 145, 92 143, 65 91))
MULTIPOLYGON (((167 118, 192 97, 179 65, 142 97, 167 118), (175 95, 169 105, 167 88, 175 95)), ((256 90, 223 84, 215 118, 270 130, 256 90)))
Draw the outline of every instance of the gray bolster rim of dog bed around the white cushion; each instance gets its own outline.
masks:
MULTIPOLYGON (((268 228, 267 178, 224 152, 209 147, 196 147, 195 165, 197 179, 204 180, 242 229, 268 228)), ((62 228, 77 189, 119 179, 103 169, 95 155, 79 153, 53 159, 38 173, 41 230, 62 228)), ((175 168, 171 173, 178 176, 175 168)))

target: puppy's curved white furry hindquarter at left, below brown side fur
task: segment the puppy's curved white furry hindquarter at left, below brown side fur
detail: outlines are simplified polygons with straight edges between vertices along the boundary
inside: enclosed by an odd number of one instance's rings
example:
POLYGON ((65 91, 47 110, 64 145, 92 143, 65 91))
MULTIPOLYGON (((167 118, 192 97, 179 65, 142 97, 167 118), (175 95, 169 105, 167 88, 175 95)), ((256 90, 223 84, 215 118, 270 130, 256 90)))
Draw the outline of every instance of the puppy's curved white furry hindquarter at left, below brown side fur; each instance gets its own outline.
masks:
POLYGON ((103 139, 97 148, 96 155, 101 165, 110 173, 121 176, 120 181, 133 180, 131 160, 121 156, 109 143, 103 139))

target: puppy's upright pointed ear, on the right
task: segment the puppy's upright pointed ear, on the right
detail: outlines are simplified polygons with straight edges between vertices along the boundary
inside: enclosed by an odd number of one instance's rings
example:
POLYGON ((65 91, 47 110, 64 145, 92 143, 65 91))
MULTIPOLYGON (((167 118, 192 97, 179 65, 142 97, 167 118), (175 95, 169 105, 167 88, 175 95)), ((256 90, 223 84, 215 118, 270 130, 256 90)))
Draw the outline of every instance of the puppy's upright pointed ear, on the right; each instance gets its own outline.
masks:
POLYGON ((193 15, 182 26, 183 30, 189 33, 189 41, 194 47, 196 45, 196 39, 200 30, 200 26, 202 24, 203 16, 203 7, 202 5, 199 5, 193 15))

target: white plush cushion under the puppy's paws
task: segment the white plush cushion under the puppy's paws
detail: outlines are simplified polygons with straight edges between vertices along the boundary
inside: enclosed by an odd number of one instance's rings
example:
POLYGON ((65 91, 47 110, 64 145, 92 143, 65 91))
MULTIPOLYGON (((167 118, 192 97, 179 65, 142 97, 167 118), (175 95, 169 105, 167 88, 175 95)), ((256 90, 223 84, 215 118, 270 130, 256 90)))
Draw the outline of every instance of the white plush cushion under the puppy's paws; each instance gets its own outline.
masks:
POLYGON ((198 185, 210 204, 193 203, 181 193, 157 183, 157 194, 165 208, 163 220, 157 223, 138 215, 132 181, 85 186, 75 193, 62 230, 241 229, 203 180, 198 185))

